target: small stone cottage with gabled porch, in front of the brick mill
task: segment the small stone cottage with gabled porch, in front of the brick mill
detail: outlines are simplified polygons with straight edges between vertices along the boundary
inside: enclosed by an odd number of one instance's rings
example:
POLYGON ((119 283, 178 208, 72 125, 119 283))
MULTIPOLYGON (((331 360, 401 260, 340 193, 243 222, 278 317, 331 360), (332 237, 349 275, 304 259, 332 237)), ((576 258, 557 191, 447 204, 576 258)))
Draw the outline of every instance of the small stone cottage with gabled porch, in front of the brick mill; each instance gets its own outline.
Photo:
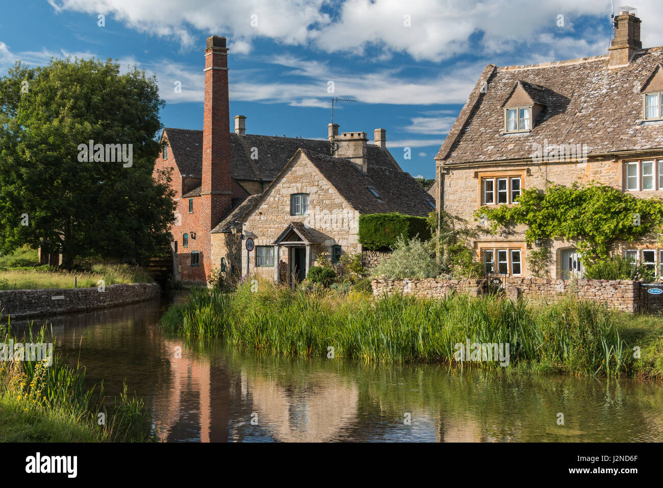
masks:
POLYGON ((426 216, 434 206, 414 178, 379 160, 298 149, 265 192, 248 197, 212 230, 212 261, 292 284, 321 257, 336 264, 343 253, 362 251, 359 215, 426 216), (253 239, 250 252, 238 246, 241 234, 253 239))

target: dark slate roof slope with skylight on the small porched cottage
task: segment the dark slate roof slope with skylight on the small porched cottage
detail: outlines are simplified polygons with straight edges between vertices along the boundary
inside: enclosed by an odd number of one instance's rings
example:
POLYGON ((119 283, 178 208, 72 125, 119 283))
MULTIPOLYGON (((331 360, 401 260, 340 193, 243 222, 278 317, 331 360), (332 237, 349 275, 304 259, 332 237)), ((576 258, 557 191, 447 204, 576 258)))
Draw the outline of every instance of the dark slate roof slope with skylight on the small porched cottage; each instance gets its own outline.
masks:
POLYGON ((333 185, 347 203, 362 214, 400 212, 427 216, 434 208, 424 188, 404 171, 385 167, 368 167, 364 174, 347 159, 331 157, 302 149, 302 153, 333 185), (369 190, 375 189, 378 197, 369 190))

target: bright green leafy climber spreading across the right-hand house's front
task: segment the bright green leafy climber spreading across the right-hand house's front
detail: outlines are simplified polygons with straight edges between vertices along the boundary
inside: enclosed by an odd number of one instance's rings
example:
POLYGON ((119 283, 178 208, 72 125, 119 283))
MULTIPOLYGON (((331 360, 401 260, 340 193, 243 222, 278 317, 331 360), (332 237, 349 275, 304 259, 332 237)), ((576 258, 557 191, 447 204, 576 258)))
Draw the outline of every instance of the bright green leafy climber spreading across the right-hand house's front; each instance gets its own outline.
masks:
POLYGON ((503 226, 527 226, 525 239, 561 238, 575 242, 587 265, 606 260, 616 242, 633 242, 646 235, 660 234, 663 202, 638 199, 629 193, 592 182, 571 187, 552 185, 546 191, 522 191, 518 204, 497 208, 482 206, 475 216, 486 214, 491 230, 503 226))

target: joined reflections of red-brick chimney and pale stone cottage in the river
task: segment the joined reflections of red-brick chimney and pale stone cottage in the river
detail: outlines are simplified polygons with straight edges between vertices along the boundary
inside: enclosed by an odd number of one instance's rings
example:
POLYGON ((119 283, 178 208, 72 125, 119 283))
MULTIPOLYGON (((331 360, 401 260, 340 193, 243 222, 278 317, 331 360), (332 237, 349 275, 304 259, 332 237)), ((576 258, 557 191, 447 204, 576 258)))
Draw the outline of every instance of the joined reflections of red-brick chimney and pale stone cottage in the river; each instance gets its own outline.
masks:
POLYGON ((341 376, 312 372, 292 382, 272 380, 187 351, 176 359, 181 345, 164 345, 170 374, 152 404, 158 440, 233 442, 262 432, 278 441, 315 442, 339 438, 356 423, 359 392, 341 376), (252 412, 258 426, 251 425, 252 412))

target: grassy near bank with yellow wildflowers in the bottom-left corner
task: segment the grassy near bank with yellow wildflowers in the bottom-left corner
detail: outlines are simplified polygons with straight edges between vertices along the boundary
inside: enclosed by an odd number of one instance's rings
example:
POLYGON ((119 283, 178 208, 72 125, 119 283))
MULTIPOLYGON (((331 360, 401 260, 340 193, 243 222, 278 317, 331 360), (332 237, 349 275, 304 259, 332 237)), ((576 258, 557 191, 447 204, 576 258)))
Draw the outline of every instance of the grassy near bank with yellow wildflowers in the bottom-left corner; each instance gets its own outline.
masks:
MULTIPOLYGON (((0 342, 9 343, 6 331, 0 342)), ((14 341, 44 343, 38 337, 14 341)), ((0 361, 0 442, 142 442, 150 425, 142 400, 125 391, 109 401, 86 388, 85 369, 53 353, 46 361, 0 361), (100 416, 99 414, 103 414, 100 416)))

